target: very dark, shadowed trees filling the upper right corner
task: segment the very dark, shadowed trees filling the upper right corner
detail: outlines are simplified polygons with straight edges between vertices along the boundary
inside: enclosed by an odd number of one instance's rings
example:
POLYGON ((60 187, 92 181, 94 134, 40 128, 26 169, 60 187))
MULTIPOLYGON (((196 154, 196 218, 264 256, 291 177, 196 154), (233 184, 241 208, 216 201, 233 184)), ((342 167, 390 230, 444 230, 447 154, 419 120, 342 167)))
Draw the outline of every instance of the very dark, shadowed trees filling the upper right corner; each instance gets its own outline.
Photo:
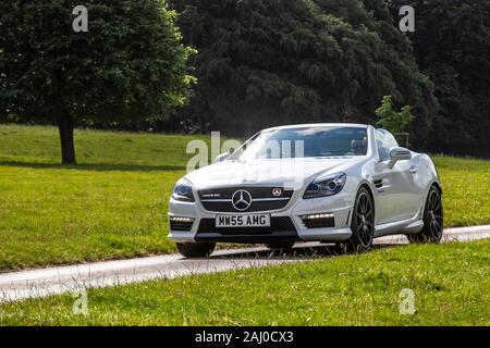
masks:
POLYGON ((490 157, 490 0, 392 0, 393 16, 406 4, 415 55, 441 105, 429 149, 490 157))

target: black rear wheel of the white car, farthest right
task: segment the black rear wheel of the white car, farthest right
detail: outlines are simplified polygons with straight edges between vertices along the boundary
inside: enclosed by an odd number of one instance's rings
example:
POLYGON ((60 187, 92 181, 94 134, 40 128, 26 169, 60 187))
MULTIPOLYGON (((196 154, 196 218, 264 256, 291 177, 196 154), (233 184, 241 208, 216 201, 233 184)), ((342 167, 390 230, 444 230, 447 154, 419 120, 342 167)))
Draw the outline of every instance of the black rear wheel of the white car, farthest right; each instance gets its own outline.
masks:
POLYGON ((424 228, 417 234, 409 234, 411 243, 439 243, 444 228, 442 197, 436 186, 432 186, 427 196, 424 209, 424 228))

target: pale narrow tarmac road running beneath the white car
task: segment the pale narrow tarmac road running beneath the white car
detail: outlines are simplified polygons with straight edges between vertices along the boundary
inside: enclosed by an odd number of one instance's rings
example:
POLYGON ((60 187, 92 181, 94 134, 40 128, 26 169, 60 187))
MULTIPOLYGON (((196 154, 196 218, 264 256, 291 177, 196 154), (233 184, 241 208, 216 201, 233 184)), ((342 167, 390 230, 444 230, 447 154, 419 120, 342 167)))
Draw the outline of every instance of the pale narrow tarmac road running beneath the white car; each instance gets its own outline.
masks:
MULTIPOLYGON (((443 241, 490 238, 490 225, 449 228, 443 241)), ((377 238, 377 247, 407 244, 405 236, 377 238)), ((62 293, 78 293, 87 287, 106 287, 156 278, 223 272, 287 262, 327 258, 331 247, 317 243, 296 244, 289 253, 266 248, 218 250, 209 259, 185 259, 180 254, 95 262, 12 273, 0 273, 0 302, 62 293)))

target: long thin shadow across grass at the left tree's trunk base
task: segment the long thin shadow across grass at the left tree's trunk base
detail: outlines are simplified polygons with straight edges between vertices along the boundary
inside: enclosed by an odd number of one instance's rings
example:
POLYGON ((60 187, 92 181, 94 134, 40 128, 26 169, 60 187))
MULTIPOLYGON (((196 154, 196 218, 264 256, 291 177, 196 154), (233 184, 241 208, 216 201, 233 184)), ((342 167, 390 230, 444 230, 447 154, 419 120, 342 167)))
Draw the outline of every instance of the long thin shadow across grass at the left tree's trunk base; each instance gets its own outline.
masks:
POLYGON ((185 165, 139 165, 139 164, 60 164, 60 163, 36 163, 0 161, 0 165, 19 166, 41 170, 75 170, 75 171, 98 171, 98 172, 164 172, 183 171, 185 165))

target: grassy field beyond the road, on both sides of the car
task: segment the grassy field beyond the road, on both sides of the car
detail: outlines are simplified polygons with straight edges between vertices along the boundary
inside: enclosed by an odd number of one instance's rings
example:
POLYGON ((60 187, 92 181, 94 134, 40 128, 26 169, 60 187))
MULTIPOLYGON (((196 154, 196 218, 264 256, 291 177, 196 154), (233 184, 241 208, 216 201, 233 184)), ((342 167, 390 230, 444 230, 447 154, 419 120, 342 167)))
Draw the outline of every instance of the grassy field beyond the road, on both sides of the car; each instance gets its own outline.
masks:
MULTIPOLYGON (((167 202, 196 137, 75 138, 79 164, 63 166, 56 128, 0 125, 0 271, 175 250, 167 202)), ((446 226, 490 223, 490 161, 434 160, 446 226)))

